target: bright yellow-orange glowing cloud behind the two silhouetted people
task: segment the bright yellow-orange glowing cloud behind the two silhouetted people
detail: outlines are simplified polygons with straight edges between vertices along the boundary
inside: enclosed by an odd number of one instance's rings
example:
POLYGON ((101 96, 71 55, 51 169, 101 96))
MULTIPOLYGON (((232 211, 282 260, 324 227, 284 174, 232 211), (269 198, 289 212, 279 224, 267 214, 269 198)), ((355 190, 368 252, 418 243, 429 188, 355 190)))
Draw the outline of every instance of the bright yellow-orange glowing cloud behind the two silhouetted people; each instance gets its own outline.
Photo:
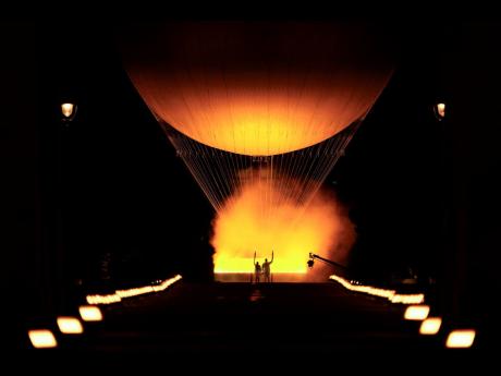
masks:
POLYGON ((253 272, 255 252, 259 263, 274 253, 272 272, 306 275, 309 252, 346 262, 355 241, 346 209, 326 192, 300 203, 297 189, 283 181, 247 182, 218 213, 211 239, 217 274, 253 272))

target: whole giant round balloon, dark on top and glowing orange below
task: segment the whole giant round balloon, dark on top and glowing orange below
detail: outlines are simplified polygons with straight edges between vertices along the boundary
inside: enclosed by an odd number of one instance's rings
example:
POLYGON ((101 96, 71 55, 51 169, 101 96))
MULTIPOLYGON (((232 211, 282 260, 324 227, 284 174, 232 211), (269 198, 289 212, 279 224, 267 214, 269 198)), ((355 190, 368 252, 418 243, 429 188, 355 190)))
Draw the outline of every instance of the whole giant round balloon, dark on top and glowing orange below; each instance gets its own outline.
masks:
POLYGON ((270 156, 363 118, 392 72, 387 44, 356 24, 204 22, 142 25, 123 48, 158 119, 218 149, 270 156))

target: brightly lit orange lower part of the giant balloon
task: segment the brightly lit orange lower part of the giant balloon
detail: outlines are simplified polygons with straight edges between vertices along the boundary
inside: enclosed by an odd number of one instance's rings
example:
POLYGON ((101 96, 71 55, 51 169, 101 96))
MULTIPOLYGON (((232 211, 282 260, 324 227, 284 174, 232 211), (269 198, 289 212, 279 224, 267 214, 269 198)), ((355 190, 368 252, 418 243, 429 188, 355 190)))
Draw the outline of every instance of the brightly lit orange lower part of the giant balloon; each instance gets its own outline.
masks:
MULTIPOLYGON (((193 93, 193 88, 182 89, 190 100, 194 100, 197 93, 193 93)), ((300 96, 301 90, 294 89, 300 96)), ((327 89, 326 93, 313 93, 311 98, 304 100, 290 99, 282 93, 273 96, 259 89, 248 92, 224 102, 222 98, 228 97, 227 93, 212 90, 217 105, 198 105, 196 112, 174 107, 167 100, 161 108, 154 108, 157 116, 199 143, 236 154, 270 156, 298 150, 335 135, 362 118, 378 94, 371 94, 370 99, 365 99, 353 113, 347 113, 343 97, 330 96, 327 89), (321 97, 325 99, 317 106, 316 100, 321 97), (293 110, 288 109, 290 101, 298 101, 298 105, 293 110)), ((146 94, 144 97, 149 99, 146 94)))

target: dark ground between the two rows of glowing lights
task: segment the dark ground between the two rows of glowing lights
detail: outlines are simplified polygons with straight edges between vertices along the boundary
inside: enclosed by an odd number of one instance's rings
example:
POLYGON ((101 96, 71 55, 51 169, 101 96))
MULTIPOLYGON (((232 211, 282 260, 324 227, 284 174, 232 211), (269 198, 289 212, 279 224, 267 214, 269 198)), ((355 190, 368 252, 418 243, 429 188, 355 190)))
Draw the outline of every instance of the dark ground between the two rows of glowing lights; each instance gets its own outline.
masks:
MULTIPOLYGON (((436 352, 405 307, 327 283, 186 283, 102 306, 105 320, 56 352, 93 355, 223 353, 332 355, 340 351, 436 352)), ((61 336, 60 336, 61 337, 61 336)), ((71 337, 71 336, 70 336, 71 337)))

